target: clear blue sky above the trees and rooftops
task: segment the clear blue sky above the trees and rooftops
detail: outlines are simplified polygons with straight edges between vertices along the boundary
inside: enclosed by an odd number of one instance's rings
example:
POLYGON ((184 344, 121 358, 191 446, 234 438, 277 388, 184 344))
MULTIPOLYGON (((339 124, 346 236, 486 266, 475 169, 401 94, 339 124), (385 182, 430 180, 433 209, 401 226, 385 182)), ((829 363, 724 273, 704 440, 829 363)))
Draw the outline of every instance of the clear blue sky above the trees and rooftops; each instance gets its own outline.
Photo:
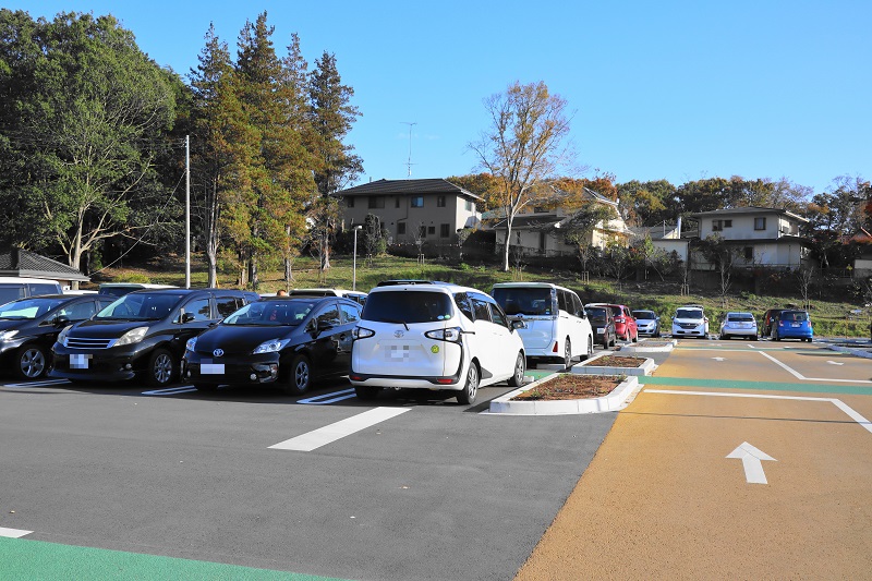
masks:
POLYGON ((112 13, 158 64, 196 66, 209 23, 235 53, 266 11, 279 55, 298 33, 310 68, 337 58, 363 116, 348 143, 359 183, 476 170, 483 99, 544 81, 573 111, 584 175, 618 182, 787 178, 815 192, 872 178, 872 2, 431 3, 8 0, 52 19, 112 13), (326 8, 326 11, 325 11, 326 8), (408 123, 415 123, 410 125, 408 123))

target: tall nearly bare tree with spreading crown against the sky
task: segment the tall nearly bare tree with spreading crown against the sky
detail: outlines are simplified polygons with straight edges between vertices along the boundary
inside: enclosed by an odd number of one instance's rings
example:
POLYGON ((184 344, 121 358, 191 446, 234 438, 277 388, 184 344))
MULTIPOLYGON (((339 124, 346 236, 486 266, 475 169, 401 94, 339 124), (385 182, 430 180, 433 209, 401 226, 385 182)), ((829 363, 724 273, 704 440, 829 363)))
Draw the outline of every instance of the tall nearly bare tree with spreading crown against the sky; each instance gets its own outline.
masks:
POLYGON ((508 271, 514 217, 524 206, 550 194, 541 186, 572 158, 564 146, 569 134, 567 101, 548 93, 543 82, 516 82, 484 105, 492 125, 469 147, 477 155, 480 169, 499 184, 489 203, 506 217, 502 270, 508 271))

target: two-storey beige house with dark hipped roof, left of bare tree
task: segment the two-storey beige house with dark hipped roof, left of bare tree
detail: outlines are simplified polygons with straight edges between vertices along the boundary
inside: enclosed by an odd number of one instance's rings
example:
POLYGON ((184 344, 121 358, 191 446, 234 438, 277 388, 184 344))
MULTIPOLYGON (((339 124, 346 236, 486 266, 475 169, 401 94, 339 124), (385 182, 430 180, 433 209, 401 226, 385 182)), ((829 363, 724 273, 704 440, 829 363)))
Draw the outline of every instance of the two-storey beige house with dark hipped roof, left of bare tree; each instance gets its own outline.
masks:
POLYGON ((481 222, 475 207, 482 198, 441 179, 378 180, 337 192, 344 228, 378 216, 388 243, 414 242, 420 235, 435 244, 455 243, 457 232, 481 222))

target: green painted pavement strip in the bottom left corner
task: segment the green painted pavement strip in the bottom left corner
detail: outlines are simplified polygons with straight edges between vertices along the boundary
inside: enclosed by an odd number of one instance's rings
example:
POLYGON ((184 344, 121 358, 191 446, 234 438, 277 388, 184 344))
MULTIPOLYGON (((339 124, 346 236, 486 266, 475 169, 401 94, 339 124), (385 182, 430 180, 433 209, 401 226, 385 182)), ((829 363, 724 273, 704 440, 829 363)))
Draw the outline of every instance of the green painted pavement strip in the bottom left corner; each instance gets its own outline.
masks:
POLYGON ((0 537, 0 580, 341 581, 220 562, 0 537))

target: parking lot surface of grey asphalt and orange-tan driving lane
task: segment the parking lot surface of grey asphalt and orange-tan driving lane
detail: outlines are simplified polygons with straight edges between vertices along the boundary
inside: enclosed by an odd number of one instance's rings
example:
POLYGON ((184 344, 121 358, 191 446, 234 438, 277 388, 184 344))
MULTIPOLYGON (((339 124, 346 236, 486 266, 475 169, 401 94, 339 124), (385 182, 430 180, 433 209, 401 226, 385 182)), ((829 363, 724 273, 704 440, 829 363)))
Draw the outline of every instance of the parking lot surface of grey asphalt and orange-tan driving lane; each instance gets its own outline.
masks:
POLYGON ((99 559, 76 547, 141 578, 868 576, 870 361, 701 339, 655 358, 625 410, 567 416, 483 413, 504 385, 461 406, 361 402, 346 382, 289 398, 7 378, 0 528, 20 537, 0 552, 82 577, 99 559))

